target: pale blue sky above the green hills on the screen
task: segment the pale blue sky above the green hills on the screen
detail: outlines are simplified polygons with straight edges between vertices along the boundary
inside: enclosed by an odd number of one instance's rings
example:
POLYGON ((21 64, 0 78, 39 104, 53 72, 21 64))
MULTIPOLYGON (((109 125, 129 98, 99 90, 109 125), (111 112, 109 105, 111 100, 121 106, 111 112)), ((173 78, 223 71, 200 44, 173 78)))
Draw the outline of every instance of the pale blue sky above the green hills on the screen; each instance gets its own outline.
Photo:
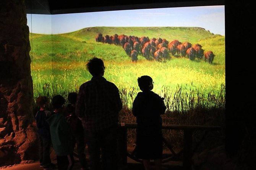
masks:
POLYGON ((29 31, 62 34, 86 27, 202 27, 225 36, 225 6, 193 6, 73 14, 27 14, 29 31))

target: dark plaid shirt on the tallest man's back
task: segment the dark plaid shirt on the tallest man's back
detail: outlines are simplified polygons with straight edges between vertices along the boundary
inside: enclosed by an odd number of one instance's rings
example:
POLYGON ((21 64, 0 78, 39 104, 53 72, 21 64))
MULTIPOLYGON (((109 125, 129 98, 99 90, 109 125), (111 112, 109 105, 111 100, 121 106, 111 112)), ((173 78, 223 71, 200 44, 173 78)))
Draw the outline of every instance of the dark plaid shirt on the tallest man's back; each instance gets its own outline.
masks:
POLYGON ((80 86, 76 101, 76 115, 85 130, 102 130, 118 123, 122 109, 119 90, 104 77, 92 77, 80 86))

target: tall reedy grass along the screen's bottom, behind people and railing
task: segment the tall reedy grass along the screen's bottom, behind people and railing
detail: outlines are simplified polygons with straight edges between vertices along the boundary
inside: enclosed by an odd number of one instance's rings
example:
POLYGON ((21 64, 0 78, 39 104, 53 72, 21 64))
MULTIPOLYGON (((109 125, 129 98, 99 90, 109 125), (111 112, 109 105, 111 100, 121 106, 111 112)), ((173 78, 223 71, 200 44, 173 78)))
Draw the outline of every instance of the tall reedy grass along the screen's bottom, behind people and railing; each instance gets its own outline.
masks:
MULTIPOLYGON (((34 91, 35 100, 37 96, 47 96, 52 99, 54 95, 62 95, 67 99, 68 93, 72 91, 78 92, 78 88, 63 89, 62 85, 57 83, 45 83, 42 87, 40 84, 34 84, 34 88, 42 89, 34 91)), ((165 114, 162 115, 163 124, 175 125, 212 125, 223 126, 225 117, 225 85, 221 85, 218 90, 204 92, 194 87, 177 87, 174 91, 170 87, 164 87, 162 94, 164 103, 167 106, 165 114)), ((120 97, 123 103, 123 109, 119 114, 119 122, 136 123, 136 117, 133 116, 131 108, 132 102, 139 92, 138 88, 120 89, 120 97)), ((34 100, 34 114, 38 110, 34 100)), ((50 105, 50 109, 52 106, 50 105)), ((214 133, 214 132, 212 132, 214 133)), ((183 131, 182 130, 163 130, 163 135, 173 149, 182 148, 183 131)), ((201 132, 194 132, 194 141, 198 141, 202 136, 201 132)), ((223 138, 223 133, 215 133, 212 137, 209 136, 206 142, 218 144, 217 138, 223 138), (216 137, 217 136, 217 137, 216 137), (217 142, 217 143, 216 143, 217 142)), ((135 143, 136 130, 128 129, 127 132, 128 144, 135 143)))

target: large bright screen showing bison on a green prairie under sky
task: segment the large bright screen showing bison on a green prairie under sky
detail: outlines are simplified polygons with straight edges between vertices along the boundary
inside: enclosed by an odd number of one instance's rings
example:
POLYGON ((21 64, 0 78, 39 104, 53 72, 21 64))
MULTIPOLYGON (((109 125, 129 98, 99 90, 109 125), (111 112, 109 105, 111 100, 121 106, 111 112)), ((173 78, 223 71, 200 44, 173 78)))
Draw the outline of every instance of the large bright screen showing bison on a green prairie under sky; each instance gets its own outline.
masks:
POLYGON ((225 88, 225 8, 193 6, 71 14, 27 14, 34 95, 66 95, 91 79, 96 56, 127 107, 138 77, 169 98, 225 88))

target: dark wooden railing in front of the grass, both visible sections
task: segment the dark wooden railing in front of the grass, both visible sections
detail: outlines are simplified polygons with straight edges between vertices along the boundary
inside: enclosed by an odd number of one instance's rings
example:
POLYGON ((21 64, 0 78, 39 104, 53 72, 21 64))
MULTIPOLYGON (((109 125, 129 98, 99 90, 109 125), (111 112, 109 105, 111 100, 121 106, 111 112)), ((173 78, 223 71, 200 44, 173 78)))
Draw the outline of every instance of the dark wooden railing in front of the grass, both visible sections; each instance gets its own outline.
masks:
MULTIPOLYGON (((119 123, 119 135, 118 135, 118 143, 119 143, 119 161, 121 165, 127 165, 127 129, 135 129, 137 128, 136 123, 119 123)), ((194 126, 194 125, 162 125, 162 129, 167 130, 183 130, 184 134, 184 143, 183 143, 183 169, 191 170, 192 165, 192 156, 193 156, 193 132, 196 130, 204 130, 205 135, 212 130, 221 130, 220 126, 194 126)), ((203 137, 204 138, 204 137, 203 137)), ((203 141, 203 138, 201 141, 203 141)), ((200 141, 200 142, 201 142, 200 141)))

